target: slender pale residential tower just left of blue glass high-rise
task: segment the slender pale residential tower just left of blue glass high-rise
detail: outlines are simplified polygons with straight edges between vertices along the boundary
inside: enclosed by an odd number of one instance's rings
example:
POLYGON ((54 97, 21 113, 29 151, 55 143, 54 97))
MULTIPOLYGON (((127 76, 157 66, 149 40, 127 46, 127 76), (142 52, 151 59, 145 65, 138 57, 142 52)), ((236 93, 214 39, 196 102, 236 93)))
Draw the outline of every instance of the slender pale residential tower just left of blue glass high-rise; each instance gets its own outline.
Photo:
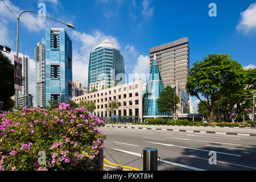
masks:
POLYGON ((46 108, 46 46, 35 46, 35 107, 46 108))

